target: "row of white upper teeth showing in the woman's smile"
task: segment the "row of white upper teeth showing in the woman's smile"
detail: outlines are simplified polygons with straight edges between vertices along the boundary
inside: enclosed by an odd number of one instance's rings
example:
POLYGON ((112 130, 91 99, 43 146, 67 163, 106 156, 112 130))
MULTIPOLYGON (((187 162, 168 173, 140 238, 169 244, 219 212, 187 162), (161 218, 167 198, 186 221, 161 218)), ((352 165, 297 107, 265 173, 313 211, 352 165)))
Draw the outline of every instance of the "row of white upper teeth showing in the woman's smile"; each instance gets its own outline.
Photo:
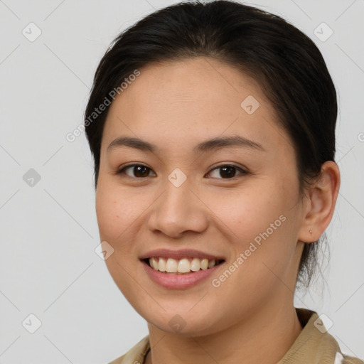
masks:
POLYGON ((167 260, 159 257, 158 262, 155 257, 149 258, 149 265, 155 270, 159 270, 159 272, 167 272, 167 273, 189 273, 189 272, 197 272, 200 269, 210 269, 215 267, 216 260, 211 259, 210 261, 206 258, 199 259, 193 258, 190 262, 190 259, 173 259, 168 258, 167 260))

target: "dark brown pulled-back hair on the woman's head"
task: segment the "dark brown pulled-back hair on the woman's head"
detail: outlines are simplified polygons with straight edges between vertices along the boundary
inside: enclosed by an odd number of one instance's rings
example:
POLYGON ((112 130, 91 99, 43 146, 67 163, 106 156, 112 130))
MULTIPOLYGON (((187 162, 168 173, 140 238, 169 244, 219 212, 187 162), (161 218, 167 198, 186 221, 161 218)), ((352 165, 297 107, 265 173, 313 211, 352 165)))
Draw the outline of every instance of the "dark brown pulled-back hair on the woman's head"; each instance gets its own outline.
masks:
MULTIPOLYGON (((278 126, 291 138, 303 197, 320 175, 321 165, 334 161, 336 89, 319 48, 308 36, 277 15, 230 0, 168 6, 114 39, 97 67, 85 109, 95 188, 109 106, 90 122, 95 108, 135 70, 198 56, 228 63, 257 81, 277 113, 278 126)), ((326 240, 325 233, 321 239, 326 240)), ((317 267, 320 240, 304 246, 297 282, 305 287, 317 267)))

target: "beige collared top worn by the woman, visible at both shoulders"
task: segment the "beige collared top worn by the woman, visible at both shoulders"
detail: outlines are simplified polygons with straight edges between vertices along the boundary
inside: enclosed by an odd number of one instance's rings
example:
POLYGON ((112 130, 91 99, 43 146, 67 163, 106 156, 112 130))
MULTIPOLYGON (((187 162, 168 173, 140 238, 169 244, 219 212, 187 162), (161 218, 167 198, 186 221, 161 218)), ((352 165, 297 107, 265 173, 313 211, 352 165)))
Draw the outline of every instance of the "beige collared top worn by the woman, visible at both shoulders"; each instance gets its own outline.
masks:
MULTIPOLYGON (((341 353, 338 342, 326 331, 316 312, 298 308, 296 312, 303 329, 277 364, 364 364, 363 360, 341 353)), ((149 350, 148 335, 109 364, 144 364, 149 350)))

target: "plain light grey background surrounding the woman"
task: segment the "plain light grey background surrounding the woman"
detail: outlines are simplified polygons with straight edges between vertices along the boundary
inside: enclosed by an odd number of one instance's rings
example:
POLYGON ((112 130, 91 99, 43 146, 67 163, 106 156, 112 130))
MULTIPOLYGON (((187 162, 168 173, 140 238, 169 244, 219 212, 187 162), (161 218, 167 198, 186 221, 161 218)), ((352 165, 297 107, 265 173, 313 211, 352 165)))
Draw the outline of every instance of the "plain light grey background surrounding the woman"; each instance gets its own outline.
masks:
MULTIPOLYGON (((65 136, 82 123, 109 43, 176 2, 0 1, 0 363, 108 363, 148 333, 95 253, 100 240, 85 134, 73 142, 65 136), (30 314, 41 321, 34 333, 30 314)), ((325 314, 343 352, 364 358, 364 1, 245 4, 304 31, 338 89, 341 190, 326 230, 327 284, 319 279, 295 304, 325 314)))

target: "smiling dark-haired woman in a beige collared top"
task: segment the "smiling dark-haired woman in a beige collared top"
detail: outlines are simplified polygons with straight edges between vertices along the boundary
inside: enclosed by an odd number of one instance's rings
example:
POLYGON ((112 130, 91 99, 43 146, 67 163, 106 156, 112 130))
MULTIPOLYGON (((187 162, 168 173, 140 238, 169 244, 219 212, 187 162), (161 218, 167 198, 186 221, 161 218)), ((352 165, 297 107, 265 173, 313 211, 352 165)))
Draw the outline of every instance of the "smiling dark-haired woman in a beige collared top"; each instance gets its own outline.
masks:
POLYGON ((363 363, 295 308, 340 187, 336 90, 297 28, 233 1, 146 16, 85 111, 97 223, 149 335, 126 363, 363 363))

